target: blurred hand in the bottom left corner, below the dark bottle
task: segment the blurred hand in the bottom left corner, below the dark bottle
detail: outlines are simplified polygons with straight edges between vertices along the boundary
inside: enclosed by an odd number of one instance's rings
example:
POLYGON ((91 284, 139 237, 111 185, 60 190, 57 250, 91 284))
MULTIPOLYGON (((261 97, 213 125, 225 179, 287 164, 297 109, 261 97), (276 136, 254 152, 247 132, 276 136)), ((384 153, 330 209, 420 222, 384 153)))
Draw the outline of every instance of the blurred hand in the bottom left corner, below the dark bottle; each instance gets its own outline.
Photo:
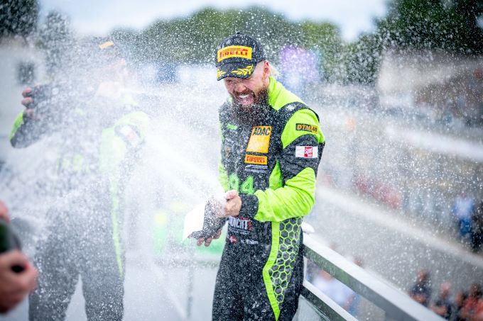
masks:
POLYGON ((38 271, 18 250, 0 254, 0 313, 11 310, 33 291, 37 276, 38 271), (23 266, 23 271, 16 273, 12 266, 23 266))

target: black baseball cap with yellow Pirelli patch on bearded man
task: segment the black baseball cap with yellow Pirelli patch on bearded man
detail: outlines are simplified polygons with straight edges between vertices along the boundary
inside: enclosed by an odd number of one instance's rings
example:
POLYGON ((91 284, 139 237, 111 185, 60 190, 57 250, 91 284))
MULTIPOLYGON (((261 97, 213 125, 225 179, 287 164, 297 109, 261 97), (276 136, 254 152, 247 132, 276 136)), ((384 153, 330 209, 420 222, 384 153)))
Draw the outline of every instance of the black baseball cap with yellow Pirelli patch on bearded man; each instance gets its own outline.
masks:
POLYGON ((250 35, 237 33, 225 38, 215 52, 217 79, 251 76, 258 62, 266 60, 261 43, 250 35))

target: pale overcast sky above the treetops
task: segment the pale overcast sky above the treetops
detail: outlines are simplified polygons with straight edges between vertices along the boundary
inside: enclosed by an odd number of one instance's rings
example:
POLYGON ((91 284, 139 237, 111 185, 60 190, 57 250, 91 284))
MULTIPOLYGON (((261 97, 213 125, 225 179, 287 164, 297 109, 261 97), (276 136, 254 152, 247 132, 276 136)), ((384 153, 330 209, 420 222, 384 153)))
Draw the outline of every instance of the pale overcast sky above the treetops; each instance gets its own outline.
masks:
POLYGON ((264 6, 293 21, 330 21, 345 40, 374 28, 373 19, 384 16, 387 0, 40 0, 41 14, 52 9, 67 13, 73 28, 83 35, 102 35, 115 27, 142 29, 158 18, 189 16, 207 6, 246 9, 264 6))

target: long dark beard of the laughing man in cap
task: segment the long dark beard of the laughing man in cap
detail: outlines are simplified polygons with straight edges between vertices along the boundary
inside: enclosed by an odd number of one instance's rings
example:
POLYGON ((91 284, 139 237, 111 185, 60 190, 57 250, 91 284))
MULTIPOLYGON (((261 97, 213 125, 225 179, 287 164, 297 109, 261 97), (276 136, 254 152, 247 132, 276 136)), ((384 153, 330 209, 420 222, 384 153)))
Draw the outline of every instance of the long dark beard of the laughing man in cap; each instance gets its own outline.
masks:
POLYGON ((239 120, 242 124, 254 125, 259 123, 259 121, 264 119, 268 113, 268 94, 266 89, 259 92, 259 94, 256 95, 255 103, 252 103, 249 106, 243 106, 237 102, 236 98, 232 98, 232 114, 234 118, 239 120))

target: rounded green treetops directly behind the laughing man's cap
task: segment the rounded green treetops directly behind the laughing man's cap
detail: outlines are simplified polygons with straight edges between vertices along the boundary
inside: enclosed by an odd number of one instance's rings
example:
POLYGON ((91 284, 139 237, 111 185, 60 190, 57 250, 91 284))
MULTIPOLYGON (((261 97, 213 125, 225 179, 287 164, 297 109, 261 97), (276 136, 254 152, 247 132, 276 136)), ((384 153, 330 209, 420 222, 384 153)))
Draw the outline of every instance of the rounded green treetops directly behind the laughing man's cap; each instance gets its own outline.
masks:
POLYGON ((295 23, 258 7, 227 11, 208 8, 187 18, 149 26, 139 36, 136 55, 151 62, 212 63, 219 42, 237 32, 258 38, 273 62, 278 61, 284 45, 298 45, 331 57, 324 66, 328 67, 335 65, 332 57, 342 47, 340 32, 330 23, 295 23))

